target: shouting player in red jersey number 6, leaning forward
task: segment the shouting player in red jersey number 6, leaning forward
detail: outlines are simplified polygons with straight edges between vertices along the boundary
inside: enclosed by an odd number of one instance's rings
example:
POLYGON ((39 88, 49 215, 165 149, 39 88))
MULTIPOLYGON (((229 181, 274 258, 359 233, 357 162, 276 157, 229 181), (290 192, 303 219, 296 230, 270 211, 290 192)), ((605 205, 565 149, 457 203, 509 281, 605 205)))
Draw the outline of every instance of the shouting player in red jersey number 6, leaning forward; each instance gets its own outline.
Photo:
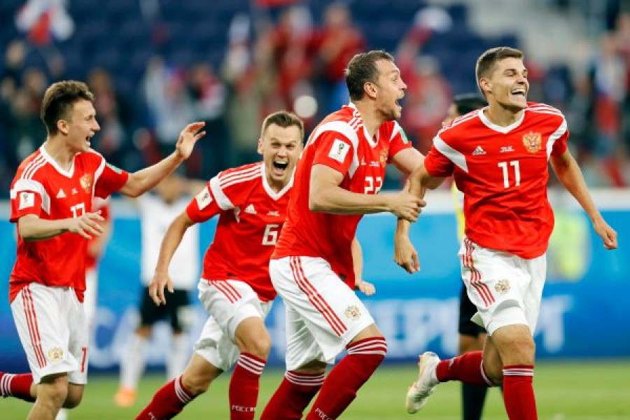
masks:
POLYGON ((173 291, 169 262, 186 230, 219 216, 198 286, 211 318, 186 370, 162 386, 137 419, 171 419, 235 363, 230 419, 254 418, 258 381, 271 346, 263 320, 276 297, 269 256, 286 218, 303 138, 302 120, 293 113, 267 116, 258 141, 262 162, 219 173, 169 226, 149 285, 158 305, 166 302, 165 287, 173 291))

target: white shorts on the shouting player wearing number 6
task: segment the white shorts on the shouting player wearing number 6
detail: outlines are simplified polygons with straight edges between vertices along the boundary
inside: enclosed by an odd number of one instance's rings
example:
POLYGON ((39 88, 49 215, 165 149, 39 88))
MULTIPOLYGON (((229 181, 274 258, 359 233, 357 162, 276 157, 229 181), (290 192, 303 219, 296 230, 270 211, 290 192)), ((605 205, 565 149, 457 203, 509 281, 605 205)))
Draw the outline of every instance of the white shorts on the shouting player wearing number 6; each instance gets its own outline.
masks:
POLYGON ((272 302, 260 302, 255 291, 244 281, 199 282, 199 299, 210 314, 199 339, 195 353, 211 365, 229 370, 239 358, 235 332, 246 318, 257 316, 263 320, 269 314, 272 302))

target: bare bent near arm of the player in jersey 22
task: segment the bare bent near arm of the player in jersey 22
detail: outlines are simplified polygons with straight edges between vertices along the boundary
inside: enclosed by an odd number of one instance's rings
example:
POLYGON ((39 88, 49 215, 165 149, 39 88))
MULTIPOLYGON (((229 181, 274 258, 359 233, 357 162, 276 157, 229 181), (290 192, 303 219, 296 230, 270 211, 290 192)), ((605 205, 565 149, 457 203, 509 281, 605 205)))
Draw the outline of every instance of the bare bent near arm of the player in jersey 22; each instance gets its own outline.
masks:
POLYGON ((415 221, 424 202, 409 193, 360 194, 339 187, 344 174, 325 165, 311 169, 309 208, 334 214, 372 214, 389 211, 415 221))

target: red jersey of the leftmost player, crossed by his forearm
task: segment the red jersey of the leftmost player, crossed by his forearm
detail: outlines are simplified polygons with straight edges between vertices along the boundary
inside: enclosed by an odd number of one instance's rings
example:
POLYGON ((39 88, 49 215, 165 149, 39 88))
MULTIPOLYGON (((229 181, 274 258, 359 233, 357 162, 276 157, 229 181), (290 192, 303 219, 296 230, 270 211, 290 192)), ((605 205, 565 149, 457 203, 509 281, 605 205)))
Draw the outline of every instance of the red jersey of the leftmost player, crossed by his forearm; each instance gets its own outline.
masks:
MULTIPOLYGON (((127 182, 127 172, 111 167, 99 153, 74 156, 69 171, 59 167, 42 146, 18 167, 11 183, 10 221, 27 214, 45 220, 82 216, 92 211, 92 198, 107 197, 127 182)), ((72 287, 83 302, 87 239, 71 232, 38 241, 18 235, 18 258, 10 276, 9 298, 29 283, 72 287)))

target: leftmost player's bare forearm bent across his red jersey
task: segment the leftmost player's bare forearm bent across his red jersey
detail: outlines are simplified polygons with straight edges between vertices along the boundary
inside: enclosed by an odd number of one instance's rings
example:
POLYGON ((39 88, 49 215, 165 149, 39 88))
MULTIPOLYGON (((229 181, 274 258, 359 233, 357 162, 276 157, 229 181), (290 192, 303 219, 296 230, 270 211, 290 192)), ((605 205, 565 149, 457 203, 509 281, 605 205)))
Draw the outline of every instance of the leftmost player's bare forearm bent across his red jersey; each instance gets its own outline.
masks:
POLYGON ((25 241, 48 239, 65 232, 73 232, 85 239, 92 239, 92 236, 103 233, 103 221, 100 211, 57 220, 45 220, 34 214, 27 214, 18 220, 18 234, 25 241))

